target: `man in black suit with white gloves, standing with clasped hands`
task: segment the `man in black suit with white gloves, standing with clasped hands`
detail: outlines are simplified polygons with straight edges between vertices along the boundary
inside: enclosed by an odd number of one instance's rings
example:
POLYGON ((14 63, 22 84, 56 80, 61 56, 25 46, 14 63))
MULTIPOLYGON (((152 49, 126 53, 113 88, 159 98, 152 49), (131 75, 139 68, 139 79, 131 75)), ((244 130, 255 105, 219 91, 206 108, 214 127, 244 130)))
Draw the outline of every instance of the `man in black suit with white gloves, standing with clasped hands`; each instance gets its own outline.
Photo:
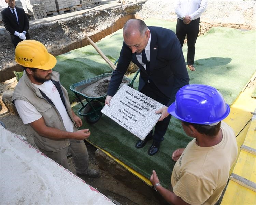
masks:
POLYGON ((15 0, 5 0, 5 2, 8 7, 1 12, 2 19, 4 27, 10 32, 12 43, 16 48, 20 41, 30 39, 28 17, 22 8, 15 7, 15 0))

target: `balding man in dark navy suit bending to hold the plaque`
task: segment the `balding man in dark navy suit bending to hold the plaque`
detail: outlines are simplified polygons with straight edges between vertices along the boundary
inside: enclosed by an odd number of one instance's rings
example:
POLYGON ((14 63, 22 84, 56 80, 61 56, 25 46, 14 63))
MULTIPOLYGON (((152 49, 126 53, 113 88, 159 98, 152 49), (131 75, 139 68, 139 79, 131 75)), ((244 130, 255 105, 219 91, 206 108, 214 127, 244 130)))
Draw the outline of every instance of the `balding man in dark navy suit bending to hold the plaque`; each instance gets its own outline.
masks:
POLYGON ((130 61, 140 68, 139 91, 165 105, 156 113, 161 113, 155 131, 147 135, 144 141, 139 140, 135 147, 142 148, 153 138, 148 150, 149 155, 158 152, 160 142, 167 130, 171 115, 167 112, 175 101, 177 91, 189 83, 184 56, 175 33, 161 27, 146 26, 144 21, 131 19, 123 29, 124 42, 119 62, 110 80, 105 104, 117 92, 123 75, 130 61))

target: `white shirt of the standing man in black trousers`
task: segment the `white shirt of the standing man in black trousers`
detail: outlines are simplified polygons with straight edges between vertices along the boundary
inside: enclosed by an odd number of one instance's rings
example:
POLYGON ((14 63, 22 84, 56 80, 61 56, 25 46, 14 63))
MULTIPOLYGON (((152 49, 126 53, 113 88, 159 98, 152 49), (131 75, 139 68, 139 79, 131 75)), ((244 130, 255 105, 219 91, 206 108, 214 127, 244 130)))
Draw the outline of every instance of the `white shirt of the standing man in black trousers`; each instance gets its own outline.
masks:
POLYGON ((176 0, 175 13, 181 20, 186 15, 189 15, 191 20, 195 20, 206 10, 206 6, 207 0, 176 0))

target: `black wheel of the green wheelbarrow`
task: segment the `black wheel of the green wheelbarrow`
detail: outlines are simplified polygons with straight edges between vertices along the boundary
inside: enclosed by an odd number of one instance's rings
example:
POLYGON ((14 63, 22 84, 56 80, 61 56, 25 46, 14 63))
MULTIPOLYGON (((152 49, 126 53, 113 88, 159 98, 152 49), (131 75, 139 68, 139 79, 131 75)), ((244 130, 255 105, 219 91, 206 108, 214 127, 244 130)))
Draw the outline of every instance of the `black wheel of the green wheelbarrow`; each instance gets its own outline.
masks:
MULTIPOLYGON (((99 101, 92 101, 90 102, 91 106, 93 106, 94 109, 98 109, 99 107, 101 107, 101 103, 99 101)), ((86 113, 90 113, 93 111, 93 108, 91 108, 91 106, 89 104, 87 104, 84 108, 84 114, 86 113)), ((97 112, 93 112, 90 115, 84 116, 84 119, 90 123, 90 124, 94 124, 96 122, 98 122, 98 120, 101 118, 102 113, 100 111, 97 112)))

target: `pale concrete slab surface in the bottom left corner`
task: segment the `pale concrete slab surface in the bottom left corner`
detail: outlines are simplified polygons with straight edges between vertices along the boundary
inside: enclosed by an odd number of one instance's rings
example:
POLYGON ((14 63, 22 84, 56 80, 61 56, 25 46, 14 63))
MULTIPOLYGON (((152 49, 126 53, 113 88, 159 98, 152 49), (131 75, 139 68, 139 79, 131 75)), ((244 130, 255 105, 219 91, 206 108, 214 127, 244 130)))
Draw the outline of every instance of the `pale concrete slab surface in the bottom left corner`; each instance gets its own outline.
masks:
POLYGON ((113 204, 0 125, 0 204, 113 204))

